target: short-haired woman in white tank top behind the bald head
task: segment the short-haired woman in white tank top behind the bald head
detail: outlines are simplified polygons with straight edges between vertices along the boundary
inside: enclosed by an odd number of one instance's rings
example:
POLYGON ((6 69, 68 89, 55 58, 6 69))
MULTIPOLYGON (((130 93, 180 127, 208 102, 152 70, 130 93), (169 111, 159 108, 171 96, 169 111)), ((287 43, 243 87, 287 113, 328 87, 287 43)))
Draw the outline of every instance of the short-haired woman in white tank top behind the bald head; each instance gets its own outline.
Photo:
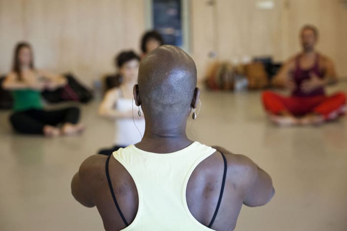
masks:
POLYGON ((141 141, 141 134, 145 131, 145 120, 141 109, 141 113, 138 113, 139 109, 132 96, 132 89, 137 81, 139 61, 140 58, 133 51, 122 52, 116 58, 122 84, 108 90, 99 107, 101 116, 115 119, 114 147, 99 150, 99 154, 110 155, 120 147, 141 141))

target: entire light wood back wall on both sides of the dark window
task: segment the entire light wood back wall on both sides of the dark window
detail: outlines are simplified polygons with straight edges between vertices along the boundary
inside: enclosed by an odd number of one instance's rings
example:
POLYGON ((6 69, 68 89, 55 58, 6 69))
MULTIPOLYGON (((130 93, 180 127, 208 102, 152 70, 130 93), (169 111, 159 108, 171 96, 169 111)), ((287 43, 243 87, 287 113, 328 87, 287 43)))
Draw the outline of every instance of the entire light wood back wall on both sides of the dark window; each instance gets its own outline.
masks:
MULTIPOLYGON (((338 0, 190 0, 190 53, 202 80, 211 62, 272 55, 284 61, 300 49, 305 23, 321 32, 319 49, 347 76, 347 9, 338 0), (215 54, 215 55, 214 55, 215 54)), ((139 51, 144 0, 0 0, 0 73, 9 71, 18 41, 32 43, 38 67, 72 71, 91 84, 113 70, 122 49, 139 51)))

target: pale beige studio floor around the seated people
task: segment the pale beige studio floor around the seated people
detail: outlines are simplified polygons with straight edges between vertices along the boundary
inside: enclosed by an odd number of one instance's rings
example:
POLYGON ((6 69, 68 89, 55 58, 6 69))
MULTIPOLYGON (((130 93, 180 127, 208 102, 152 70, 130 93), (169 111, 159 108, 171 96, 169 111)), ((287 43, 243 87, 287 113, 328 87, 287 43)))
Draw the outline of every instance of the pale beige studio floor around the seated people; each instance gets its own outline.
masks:
MULTIPOLYGON (((347 92, 347 83, 328 92, 347 92)), ((245 154, 271 176, 276 195, 266 206, 243 207, 236 231, 347 230, 347 117, 324 126, 280 128, 266 120, 260 92, 202 91, 189 120, 191 139, 245 154)), ((14 134, 0 112, 0 231, 103 230, 95 208, 71 195, 81 162, 112 145, 112 121, 98 102, 82 105, 86 132, 48 139, 14 134)))

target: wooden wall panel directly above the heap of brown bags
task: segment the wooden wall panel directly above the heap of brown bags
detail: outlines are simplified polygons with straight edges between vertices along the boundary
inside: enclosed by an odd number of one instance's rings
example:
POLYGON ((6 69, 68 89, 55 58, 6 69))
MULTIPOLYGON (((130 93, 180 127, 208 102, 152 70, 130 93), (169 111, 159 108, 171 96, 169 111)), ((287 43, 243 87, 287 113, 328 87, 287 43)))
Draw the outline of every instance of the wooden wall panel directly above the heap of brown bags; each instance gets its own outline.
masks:
POLYGON ((219 58, 272 55, 280 59, 281 0, 271 10, 258 9, 258 0, 218 0, 219 58))

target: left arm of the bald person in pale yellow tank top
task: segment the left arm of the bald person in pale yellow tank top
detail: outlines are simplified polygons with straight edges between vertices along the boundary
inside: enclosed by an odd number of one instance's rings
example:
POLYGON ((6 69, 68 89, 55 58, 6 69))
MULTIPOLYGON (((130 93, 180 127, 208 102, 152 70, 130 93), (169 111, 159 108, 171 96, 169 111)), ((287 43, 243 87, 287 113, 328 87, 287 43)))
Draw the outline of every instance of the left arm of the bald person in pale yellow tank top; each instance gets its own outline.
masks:
POLYGON ((93 190, 100 177, 100 169, 105 164, 105 156, 92 155, 88 157, 80 166, 78 172, 71 181, 71 193, 73 197, 83 206, 92 208, 95 206, 93 201, 93 190))

